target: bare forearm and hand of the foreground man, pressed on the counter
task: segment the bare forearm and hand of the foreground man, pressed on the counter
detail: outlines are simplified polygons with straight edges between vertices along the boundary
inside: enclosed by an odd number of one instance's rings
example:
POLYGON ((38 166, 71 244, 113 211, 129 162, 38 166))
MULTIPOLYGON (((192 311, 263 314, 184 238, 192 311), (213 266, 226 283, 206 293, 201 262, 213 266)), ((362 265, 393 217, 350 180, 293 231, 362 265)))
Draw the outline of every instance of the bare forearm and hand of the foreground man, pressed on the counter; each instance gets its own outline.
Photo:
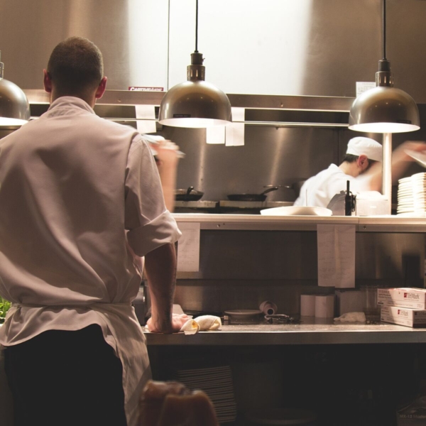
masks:
POLYGON ((176 253, 173 244, 150 251, 145 256, 145 272, 151 295, 151 332, 175 333, 187 321, 187 316, 173 315, 176 282, 176 253))

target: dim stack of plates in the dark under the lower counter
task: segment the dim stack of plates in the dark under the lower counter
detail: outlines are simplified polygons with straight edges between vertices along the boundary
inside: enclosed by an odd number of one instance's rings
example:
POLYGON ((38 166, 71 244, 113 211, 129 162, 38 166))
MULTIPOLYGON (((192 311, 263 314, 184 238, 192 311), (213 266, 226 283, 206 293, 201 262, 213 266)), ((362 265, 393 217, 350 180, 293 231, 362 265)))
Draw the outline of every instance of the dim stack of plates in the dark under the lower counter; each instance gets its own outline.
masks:
POLYGON ((175 380, 191 391, 207 393, 216 410, 219 423, 236 420, 236 402, 231 367, 195 368, 175 371, 175 380))

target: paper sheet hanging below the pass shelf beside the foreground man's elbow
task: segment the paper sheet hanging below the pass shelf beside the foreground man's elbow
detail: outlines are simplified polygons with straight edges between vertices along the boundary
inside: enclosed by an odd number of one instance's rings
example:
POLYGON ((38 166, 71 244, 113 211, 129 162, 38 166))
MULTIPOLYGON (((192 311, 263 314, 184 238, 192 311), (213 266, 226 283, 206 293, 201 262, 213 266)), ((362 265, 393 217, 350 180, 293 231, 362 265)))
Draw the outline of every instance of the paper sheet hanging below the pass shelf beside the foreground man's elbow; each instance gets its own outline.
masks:
POLYGON ((178 241, 178 271, 200 270, 200 222, 180 222, 182 236, 178 241))

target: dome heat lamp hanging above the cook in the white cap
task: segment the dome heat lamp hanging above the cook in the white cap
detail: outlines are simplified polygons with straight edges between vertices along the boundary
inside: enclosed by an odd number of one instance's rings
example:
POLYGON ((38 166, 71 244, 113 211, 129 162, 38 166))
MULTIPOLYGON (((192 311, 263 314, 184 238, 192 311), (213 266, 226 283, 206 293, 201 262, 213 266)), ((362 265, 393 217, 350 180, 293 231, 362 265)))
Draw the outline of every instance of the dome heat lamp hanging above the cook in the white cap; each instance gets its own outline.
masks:
POLYGON ((420 129, 414 99, 393 87, 391 62, 386 59, 386 0, 383 0, 383 59, 378 62, 376 87, 357 97, 349 113, 349 129, 371 133, 403 133, 420 129))

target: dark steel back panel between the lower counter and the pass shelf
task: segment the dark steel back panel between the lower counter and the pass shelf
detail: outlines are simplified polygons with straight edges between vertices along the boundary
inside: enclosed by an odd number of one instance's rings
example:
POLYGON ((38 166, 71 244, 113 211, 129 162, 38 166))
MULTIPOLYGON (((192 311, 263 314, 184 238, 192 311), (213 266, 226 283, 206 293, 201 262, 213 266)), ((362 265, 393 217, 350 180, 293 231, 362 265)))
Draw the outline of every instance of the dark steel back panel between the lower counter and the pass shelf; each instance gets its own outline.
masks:
MULTIPOLYGON (((315 231, 202 231, 200 271, 178 273, 175 301, 185 310, 257 309, 300 313, 300 294, 317 285, 315 231)), ((422 287, 425 235, 357 233, 356 287, 422 287)))

